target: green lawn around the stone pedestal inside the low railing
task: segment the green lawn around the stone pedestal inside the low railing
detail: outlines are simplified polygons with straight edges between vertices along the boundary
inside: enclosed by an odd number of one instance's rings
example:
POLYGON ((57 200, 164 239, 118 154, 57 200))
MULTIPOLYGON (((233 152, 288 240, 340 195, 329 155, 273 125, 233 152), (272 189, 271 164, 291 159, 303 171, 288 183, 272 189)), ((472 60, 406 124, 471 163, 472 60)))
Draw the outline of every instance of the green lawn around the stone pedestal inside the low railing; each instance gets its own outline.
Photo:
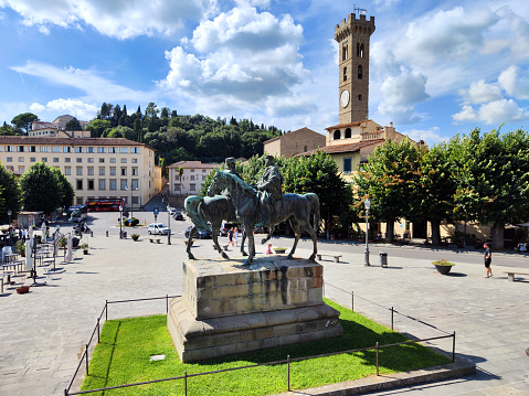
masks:
MULTIPOLYGON (((182 363, 167 331, 167 317, 154 315, 109 320, 105 322, 100 343, 89 364, 89 375, 82 389, 130 384, 193 373, 245 366, 300 356, 347 351, 408 339, 332 301, 326 300, 341 312, 343 335, 338 339, 279 346, 271 350, 182 363), (151 355, 165 354, 162 361, 150 362, 151 355)), ((379 352, 380 374, 430 367, 449 360, 419 344, 393 346, 379 352)), ((375 375, 374 351, 311 358, 290 364, 290 388, 304 389, 343 381, 375 375)), ((246 368, 188 379, 190 395, 268 395, 286 392, 287 368, 284 365, 246 368)), ((104 395, 183 395, 183 379, 151 385, 106 390, 104 395)), ((103 393, 94 393, 94 395, 103 393)))

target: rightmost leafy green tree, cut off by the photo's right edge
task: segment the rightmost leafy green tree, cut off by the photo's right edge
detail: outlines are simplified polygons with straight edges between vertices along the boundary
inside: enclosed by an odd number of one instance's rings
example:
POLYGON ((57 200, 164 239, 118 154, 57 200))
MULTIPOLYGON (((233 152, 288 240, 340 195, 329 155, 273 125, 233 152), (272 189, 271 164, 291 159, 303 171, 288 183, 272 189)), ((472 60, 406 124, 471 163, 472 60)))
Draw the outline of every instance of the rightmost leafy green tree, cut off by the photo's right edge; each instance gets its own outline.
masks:
POLYGON ((493 247, 504 247, 505 224, 529 215, 529 136, 475 129, 461 140, 455 212, 465 220, 493 225, 493 247))

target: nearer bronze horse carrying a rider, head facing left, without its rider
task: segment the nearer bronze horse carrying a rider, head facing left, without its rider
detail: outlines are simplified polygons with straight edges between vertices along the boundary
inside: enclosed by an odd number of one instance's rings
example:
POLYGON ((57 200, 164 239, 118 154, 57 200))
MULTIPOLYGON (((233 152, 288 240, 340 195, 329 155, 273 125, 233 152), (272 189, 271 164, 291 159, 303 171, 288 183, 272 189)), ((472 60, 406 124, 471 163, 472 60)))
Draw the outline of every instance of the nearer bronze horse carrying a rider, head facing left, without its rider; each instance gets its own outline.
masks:
MULTIPOLYGON (((231 203, 234 206, 235 214, 241 221, 248 238, 250 256, 244 265, 250 266, 255 256, 254 228, 256 224, 261 223, 258 192, 235 174, 215 171, 208 194, 212 196, 224 189, 228 189, 230 192, 231 203)), ((316 231, 319 227, 320 221, 318 195, 314 193, 303 195, 283 194, 282 199, 274 204, 272 211, 272 224, 263 224, 264 226, 271 226, 271 233, 267 238, 262 240, 262 243, 264 244, 269 239, 272 231, 276 224, 287 220, 290 222, 295 236, 294 246, 287 258, 293 258, 299 238, 301 237, 303 229, 308 233, 313 239, 314 249, 309 259, 314 260, 318 253, 316 231), (314 226, 310 225, 310 220, 313 220, 314 226)))

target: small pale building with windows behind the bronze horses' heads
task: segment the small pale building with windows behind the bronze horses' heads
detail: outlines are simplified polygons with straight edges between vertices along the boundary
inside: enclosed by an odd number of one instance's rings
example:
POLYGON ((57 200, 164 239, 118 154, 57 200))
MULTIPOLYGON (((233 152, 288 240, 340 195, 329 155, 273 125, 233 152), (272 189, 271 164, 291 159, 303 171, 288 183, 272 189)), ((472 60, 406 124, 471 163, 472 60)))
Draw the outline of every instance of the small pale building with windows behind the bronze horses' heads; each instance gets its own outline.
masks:
POLYGON ((202 163, 201 161, 179 161, 167 167, 169 171, 170 195, 198 195, 205 176, 221 163, 202 163), (181 172, 180 172, 181 170, 181 172))

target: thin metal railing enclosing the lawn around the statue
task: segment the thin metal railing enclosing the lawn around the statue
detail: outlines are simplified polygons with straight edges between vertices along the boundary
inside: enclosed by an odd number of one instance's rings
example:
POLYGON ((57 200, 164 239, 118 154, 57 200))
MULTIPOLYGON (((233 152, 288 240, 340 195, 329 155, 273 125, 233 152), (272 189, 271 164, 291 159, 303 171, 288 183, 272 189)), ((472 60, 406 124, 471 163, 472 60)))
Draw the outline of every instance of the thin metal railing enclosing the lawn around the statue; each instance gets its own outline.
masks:
MULTIPOLYGON (((353 292, 349 292, 347 290, 343 290, 343 289, 340 289, 336 286, 332 286, 330 283, 326 283, 327 286, 330 286, 330 287, 334 287, 338 290, 341 290, 346 293, 350 293, 351 295, 351 303, 352 303, 352 311, 355 310, 355 293, 353 292)), ((85 370, 86 370, 86 375, 88 375, 88 362, 89 362, 89 358, 88 358, 88 351, 89 351, 89 345, 92 344, 94 338, 95 338, 95 334, 97 333, 97 342, 99 342, 99 334, 100 334, 100 321, 103 319, 103 315, 105 314, 105 321, 108 320, 108 304, 113 304, 113 303, 123 303, 123 302, 137 302, 137 301, 150 301, 150 300, 161 300, 161 299, 166 299, 166 313, 169 312, 169 299, 170 298, 174 298, 174 297, 180 297, 180 296, 167 296, 166 297, 155 297, 155 298, 146 298, 146 299, 134 299, 134 300, 121 300, 121 301, 105 301, 105 307, 103 308, 103 311, 102 313, 99 314, 99 317, 97 318, 97 322, 96 322, 96 325, 94 328, 94 331, 92 332, 92 335, 88 340, 88 343, 85 345, 85 350, 80 358, 80 363, 77 365, 77 368, 75 370, 75 373, 72 377, 72 379, 68 383, 68 386, 64 389, 64 395, 65 396, 72 396, 72 395, 85 395, 85 394, 91 394, 91 393, 94 393, 94 392, 104 392, 104 390, 110 390, 110 389, 118 389, 118 388, 125 388, 125 387, 131 387, 131 386, 140 386, 140 385, 148 385, 148 384, 156 384, 156 383, 161 383, 161 382, 167 382, 167 381, 179 381, 179 379, 183 379, 183 386, 184 386, 184 395, 187 396, 188 395, 188 379, 189 378, 192 378, 192 377, 199 377, 199 376, 202 376, 202 375, 211 375, 211 374, 219 374, 219 373, 224 373, 224 372, 232 372, 232 371, 239 371, 239 370, 246 370, 246 368, 253 368, 253 367, 260 367, 260 366, 269 366, 269 365, 277 365, 277 364, 286 364, 287 367, 286 367, 286 383, 287 383, 287 390, 290 392, 290 363, 292 362, 300 362, 300 361, 306 361, 306 360, 309 360, 309 358, 316 358, 316 357, 325 357, 325 356, 332 356, 332 355, 339 355, 339 354, 350 354, 350 353, 355 353, 355 352, 364 352, 364 351, 375 351, 375 370, 377 370, 377 376, 379 375, 379 351, 382 350, 382 349, 385 349, 385 347, 392 347, 392 346, 399 346, 399 345, 406 345, 406 344, 413 344, 413 343, 420 343, 420 342, 429 342, 429 341, 434 341, 434 340, 442 340, 442 339, 451 339, 452 338, 452 362, 455 362, 455 331, 453 333, 448 333, 448 332, 445 332, 444 330, 441 330, 430 323, 426 323, 424 321, 421 321, 419 319, 415 319, 415 318, 412 318, 410 315, 405 315, 405 314, 402 314, 400 313, 399 311, 394 310, 393 307, 391 307, 391 327, 393 329, 393 315, 396 313, 396 314, 401 314, 403 317, 406 317, 409 319, 412 319, 412 320, 415 320, 415 321, 419 321, 420 323, 422 324, 425 324, 425 325, 429 325, 433 329, 436 329, 438 331, 442 331, 444 333, 446 333, 445 335, 438 335, 438 336, 432 336, 432 338, 427 338, 427 339, 421 339, 421 340, 412 340, 412 341, 403 341, 403 342, 399 342, 399 343, 392 343, 392 344, 383 344, 383 345, 379 345, 379 343, 377 342, 375 345, 373 346, 367 346, 367 347, 360 347, 360 349, 356 349, 356 350, 348 350, 348 351, 339 351, 339 352, 331 352, 331 353, 326 353, 326 354, 320 354, 320 355, 311 355, 311 356, 303 356, 303 357, 295 357, 295 358, 290 358, 289 355, 286 356, 285 360, 282 360, 282 361, 275 361, 275 362, 266 362, 266 363, 258 363, 258 364, 253 364, 253 365, 247 365, 247 366, 239 366, 239 367, 232 367, 232 368, 224 368, 224 370, 218 370, 218 371, 212 371, 212 372, 203 372, 203 373, 195 373, 195 374, 189 374, 188 375, 188 372, 184 371, 183 372, 183 375, 180 375, 180 376, 176 376, 176 377, 169 377, 169 378, 161 378, 161 379, 152 379, 152 381, 145 381, 145 382, 140 382, 140 383, 133 383, 133 384, 124 384, 124 385, 116 385, 116 386, 108 386, 108 387, 104 387, 104 388, 96 388, 96 389, 87 389, 87 390, 80 390, 80 392, 70 392, 70 389, 72 388, 72 385, 83 365, 83 361, 85 362, 85 370)), ((377 302, 373 302, 373 301, 370 301, 368 299, 364 299, 364 298, 361 298, 359 296, 356 296, 357 298, 360 298, 364 301, 369 301, 378 307, 381 307, 383 309, 388 309, 387 307, 383 307, 383 306, 380 306, 378 304, 377 302)))

